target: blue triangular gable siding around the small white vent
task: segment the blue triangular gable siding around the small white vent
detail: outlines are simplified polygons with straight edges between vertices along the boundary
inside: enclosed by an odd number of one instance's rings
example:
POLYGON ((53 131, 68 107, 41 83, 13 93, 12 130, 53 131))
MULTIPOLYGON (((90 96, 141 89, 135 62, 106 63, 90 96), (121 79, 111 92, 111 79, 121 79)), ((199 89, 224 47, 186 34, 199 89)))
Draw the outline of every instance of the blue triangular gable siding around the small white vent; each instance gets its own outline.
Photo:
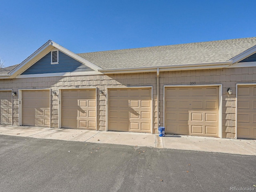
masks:
POLYGON ((88 66, 59 51, 59 64, 51 64, 51 52, 28 68, 22 75, 93 71, 88 66))

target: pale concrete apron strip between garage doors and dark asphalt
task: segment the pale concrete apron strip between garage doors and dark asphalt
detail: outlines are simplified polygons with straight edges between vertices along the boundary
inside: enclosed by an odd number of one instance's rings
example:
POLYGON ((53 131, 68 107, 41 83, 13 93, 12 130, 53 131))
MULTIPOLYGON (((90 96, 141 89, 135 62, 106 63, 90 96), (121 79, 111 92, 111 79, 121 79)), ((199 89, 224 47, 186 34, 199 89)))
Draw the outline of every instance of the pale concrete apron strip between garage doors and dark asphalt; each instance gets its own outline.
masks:
POLYGON ((0 135, 256 155, 256 140, 0 125, 0 135))

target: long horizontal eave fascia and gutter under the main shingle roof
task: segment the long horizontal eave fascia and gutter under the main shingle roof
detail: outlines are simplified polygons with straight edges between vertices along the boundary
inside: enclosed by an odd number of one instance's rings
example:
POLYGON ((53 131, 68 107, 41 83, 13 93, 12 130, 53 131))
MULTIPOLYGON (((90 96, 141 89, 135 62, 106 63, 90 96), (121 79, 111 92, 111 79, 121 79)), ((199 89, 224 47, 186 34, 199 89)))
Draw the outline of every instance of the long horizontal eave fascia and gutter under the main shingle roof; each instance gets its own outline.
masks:
POLYGON ((140 68, 104 69, 104 70, 98 70, 98 71, 104 74, 113 74, 113 73, 155 72, 157 68, 159 68, 159 71, 195 70, 195 69, 208 69, 208 68, 209 69, 224 68, 229 66, 230 64, 232 64, 232 61, 183 64, 183 65, 166 65, 166 66, 140 67, 140 68))

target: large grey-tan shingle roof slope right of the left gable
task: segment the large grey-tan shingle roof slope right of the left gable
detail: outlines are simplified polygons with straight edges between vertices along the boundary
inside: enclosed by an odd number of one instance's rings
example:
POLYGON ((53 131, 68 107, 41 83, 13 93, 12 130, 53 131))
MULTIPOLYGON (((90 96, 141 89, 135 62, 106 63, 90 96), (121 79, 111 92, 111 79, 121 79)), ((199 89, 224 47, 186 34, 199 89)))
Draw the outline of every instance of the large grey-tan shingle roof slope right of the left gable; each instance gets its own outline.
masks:
POLYGON ((228 61, 256 45, 256 37, 80 53, 102 69, 228 61))

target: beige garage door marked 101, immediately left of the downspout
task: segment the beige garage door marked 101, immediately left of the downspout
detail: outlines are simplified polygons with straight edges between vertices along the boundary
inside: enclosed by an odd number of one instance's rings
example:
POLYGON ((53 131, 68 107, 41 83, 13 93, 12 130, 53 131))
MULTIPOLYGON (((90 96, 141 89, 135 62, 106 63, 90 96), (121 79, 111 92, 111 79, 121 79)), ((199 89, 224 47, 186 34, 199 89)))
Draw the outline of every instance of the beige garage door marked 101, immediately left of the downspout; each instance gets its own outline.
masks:
POLYGON ((151 132, 151 88, 109 89, 108 130, 151 132))

